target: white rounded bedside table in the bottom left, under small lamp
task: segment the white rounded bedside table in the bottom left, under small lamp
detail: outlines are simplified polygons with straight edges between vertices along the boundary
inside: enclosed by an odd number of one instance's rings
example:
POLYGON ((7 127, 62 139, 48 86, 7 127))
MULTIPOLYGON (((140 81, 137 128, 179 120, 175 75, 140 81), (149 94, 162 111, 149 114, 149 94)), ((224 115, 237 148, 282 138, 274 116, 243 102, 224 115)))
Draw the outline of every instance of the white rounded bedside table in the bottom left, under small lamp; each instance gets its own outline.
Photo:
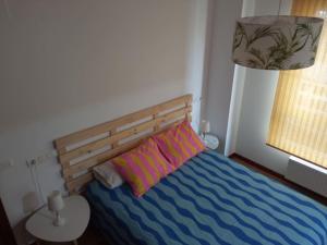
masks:
POLYGON ((38 240, 77 244, 77 238, 84 233, 89 221, 87 200, 80 195, 64 198, 64 208, 60 211, 60 216, 65 219, 65 224, 55 226, 53 213, 45 206, 28 219, 26 230, 38 240))

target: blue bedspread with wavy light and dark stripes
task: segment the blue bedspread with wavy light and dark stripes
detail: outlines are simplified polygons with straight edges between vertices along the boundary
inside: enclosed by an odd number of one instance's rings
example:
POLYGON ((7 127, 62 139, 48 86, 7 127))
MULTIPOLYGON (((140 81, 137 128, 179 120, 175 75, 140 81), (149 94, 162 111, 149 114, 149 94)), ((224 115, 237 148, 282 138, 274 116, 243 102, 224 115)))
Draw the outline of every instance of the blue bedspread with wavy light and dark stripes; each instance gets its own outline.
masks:
POLYGON ((327 244, 327 210, 214 151, 199 154, 142 198, 88 185, 93 219, 116 245, 327 244))

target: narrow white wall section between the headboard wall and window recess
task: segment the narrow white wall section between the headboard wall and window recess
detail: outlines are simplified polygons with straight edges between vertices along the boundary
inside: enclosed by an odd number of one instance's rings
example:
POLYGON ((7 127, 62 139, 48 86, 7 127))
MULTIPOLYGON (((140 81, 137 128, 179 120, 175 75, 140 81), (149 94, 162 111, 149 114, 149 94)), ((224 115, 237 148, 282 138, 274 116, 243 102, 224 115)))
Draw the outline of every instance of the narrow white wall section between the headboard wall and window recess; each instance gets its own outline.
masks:
POLYGON ((231 60, 232 40, 235 20, 241 16, 242 0, 216 0, 213 8, 205 118, 210 122, 211 133, 218 135, 220 139, 219 151, 223 151, 234 72, 231 60))

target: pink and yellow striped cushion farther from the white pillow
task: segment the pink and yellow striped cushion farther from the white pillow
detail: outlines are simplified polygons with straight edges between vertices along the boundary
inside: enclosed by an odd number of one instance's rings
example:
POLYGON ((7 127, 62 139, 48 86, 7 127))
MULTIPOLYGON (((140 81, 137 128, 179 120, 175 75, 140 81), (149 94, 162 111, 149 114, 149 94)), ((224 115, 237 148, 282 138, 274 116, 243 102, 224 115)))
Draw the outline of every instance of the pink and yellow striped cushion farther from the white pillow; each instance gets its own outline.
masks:
POLYGON ((161 154, 175 168, 205 149, 187 121, 153 137, 161 154))

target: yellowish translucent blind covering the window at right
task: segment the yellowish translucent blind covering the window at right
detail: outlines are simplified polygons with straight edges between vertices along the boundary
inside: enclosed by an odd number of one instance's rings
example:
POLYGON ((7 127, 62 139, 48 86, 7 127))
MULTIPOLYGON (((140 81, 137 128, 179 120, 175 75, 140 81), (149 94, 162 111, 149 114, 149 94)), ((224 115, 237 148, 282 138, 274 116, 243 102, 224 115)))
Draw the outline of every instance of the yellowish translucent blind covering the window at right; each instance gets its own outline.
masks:
MULTIPOLYGON (((292 14, 320 16, 327 0, 293 0, 292 14)), ((267 145, 327 168, 327 27, 313 66, 280 72, 267 145)))

